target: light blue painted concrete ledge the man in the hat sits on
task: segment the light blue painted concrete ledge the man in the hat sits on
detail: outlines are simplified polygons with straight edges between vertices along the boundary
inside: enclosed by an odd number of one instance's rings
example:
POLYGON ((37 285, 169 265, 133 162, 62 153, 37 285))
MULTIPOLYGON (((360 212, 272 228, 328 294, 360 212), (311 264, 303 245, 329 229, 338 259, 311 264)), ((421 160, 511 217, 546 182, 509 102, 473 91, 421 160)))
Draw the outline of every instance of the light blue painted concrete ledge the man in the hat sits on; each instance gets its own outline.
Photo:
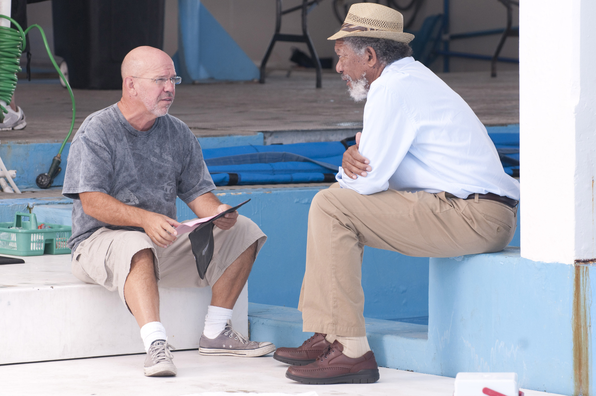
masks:
MULTIPOLYGON (((519 248, 431 258, 428 326, 367 318, 369 343, 385 367, 451 377, 517 372, 523 388, 593 394, 595 269, 530 261, 519 248)), ((250 304, 249 321, 252 339, 278 347, 312 335, 293 308, 250 304)))

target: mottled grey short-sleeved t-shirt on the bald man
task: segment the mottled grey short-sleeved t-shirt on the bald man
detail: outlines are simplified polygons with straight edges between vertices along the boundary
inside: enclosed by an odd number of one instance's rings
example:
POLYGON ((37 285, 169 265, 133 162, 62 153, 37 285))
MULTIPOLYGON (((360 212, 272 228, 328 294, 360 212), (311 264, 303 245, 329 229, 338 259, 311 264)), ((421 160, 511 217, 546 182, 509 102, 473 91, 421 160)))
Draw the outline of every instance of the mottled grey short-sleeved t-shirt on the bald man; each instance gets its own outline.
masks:
POLYGON ((158 117, 146 132, 137 131, 117 104, 85 119, 70 146, 64 196, 75 200, 73 251, 105 224, 83 212, 79 193, 100 191, 126 205, 176 219, 176 196, 185 203, 215 189, 201 146, 188 126, 170 115, 158 117))

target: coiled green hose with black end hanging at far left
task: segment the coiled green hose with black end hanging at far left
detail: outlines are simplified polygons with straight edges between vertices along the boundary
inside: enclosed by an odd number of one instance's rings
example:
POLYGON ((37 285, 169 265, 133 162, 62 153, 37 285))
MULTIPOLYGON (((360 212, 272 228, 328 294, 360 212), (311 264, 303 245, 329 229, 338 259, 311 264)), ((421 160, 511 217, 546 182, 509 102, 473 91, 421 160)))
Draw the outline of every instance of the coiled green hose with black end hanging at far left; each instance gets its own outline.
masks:
MULTIPOLYGON (((64 150, 64 146, 66 146, 66 142, 69 140, 70 135, 73 132, 73 128, 75 128, 75 115, 76 115, 76 107, 75 107, 75 95, 73 95, 72 89, 70 89, 70 84, 64 78, 64 75, 60 71, 60 67, 54 60, 54 56, 52 56, 52 51, 49 50, 48 40, 45 37, 44 29, 38 24, 33 24, 27 27, 26 30, 23 31, 23 28, 11 17, 7 17, 5 15, 0 15, 0 18, 7 19, 11 21, 17 29, 13 29, 12 27, 5 27, 0 26, 0 100, 3 100, 7 106, 13 100, 14 89, 17 88, 17 73, 21 71, 21 67, 19 66, 21 54, 23 54, 23 48, 26 47, 26 34, 29 33, 29 30, 36 27, 39 29, 39 33, 41 33, 41 38, 44 40, 44 45, 46 51, 48 51, 49 60, 52 61, 54 68, 60 75, 60 78, 66 84, 66 88, 69 90, 70 100, 73 103, 73 119, 70 122, 70 130, 69 133, 64 138, 62 142, 62 146, 60 146, 60 150, 58 154, 52 159, 52 165, 49 167, 48 173, 38 175, 35 182, 40 188, 48 188, 52 185, 52 181, 56 175, 58 175, 61 171, 60 162, 61 162, 61 154, 62 150, 64 150)), ((4 115, 8 113, 8 109, 2 104, 0 104, 0 122, 4 122, 4 115)))

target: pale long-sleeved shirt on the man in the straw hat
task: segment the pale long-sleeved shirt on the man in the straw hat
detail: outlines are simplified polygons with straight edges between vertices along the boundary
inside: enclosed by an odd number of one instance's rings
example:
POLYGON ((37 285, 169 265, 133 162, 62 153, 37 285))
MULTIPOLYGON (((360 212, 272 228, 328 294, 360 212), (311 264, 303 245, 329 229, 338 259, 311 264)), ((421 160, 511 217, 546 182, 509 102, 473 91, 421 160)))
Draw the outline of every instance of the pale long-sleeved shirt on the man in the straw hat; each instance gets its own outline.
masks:
POLYGON ((358 151, 373 170, 353 180, 340 167, 336 179, 360 194, 392 188, 519 200, 519 182, 503 170, 485 126, 460 95, 412 57, 386 66, 371 83, 358 151))

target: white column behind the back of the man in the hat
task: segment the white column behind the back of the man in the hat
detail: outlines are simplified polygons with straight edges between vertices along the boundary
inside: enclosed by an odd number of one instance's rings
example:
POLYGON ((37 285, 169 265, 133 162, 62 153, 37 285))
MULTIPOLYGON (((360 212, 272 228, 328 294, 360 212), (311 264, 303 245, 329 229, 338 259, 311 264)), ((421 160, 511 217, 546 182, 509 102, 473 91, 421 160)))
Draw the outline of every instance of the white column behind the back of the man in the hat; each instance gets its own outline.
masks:
POLYGON ((596 1, 520 1, 522 256, 596 258, 596 1))

